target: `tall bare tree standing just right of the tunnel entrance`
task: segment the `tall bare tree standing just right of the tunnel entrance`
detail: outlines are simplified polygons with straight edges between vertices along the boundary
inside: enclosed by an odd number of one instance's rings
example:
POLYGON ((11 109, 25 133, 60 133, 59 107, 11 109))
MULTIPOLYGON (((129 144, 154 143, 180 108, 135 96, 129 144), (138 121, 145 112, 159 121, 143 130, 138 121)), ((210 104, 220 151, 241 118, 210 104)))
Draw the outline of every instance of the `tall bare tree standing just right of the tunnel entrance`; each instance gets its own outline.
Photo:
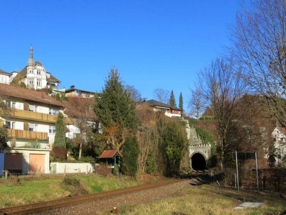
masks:
POLYGON ((241 69, 236 68, 235 71, 232 61, 224 62, 217 59, 212 61, 204 71, 198 73, 197 87, 206 105, 212 107, 218 119, 218 149, 222 168, 224 153, 230 144, 227 140, 227 132, 237 120, 239 100, 245 94, 247 87, 241 77, 241 69))

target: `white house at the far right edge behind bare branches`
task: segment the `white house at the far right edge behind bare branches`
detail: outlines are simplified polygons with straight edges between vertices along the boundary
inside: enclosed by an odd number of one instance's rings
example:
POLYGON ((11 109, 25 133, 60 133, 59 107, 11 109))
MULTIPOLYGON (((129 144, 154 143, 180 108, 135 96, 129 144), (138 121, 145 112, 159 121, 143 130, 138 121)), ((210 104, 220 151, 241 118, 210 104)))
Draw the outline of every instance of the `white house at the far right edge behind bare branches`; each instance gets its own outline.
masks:
POLYGON ((281 160, 286 160, 286 129, 276 127, 272 132, 275 154, 276 154, 276 165, 281 164, 281 160))

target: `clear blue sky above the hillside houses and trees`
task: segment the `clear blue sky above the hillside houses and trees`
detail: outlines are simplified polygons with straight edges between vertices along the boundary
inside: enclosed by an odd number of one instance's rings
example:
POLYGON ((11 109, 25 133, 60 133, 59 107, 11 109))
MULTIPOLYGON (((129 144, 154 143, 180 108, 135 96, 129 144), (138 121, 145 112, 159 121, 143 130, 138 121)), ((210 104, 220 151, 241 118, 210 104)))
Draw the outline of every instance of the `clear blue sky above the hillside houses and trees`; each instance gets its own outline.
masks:
POLYGON ((0 69, 34 59, 59 88, 101 91, 115 64, 142 97, 182 92, 187 108, 196 73, 229 44, 234 1, 0 1, 0 69))

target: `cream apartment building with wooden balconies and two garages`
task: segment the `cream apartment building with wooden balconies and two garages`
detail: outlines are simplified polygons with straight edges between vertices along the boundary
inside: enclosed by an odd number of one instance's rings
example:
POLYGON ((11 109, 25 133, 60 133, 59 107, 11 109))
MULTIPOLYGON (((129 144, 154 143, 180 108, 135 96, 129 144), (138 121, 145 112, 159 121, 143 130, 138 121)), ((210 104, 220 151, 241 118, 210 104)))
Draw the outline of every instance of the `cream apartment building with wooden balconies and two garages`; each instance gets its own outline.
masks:
MULTIPOLYGON (((0 152, 0 164, 4 163, 4 169, 11 173, 48 173, 57 115, 65 107, 53 97, 31 89, 0 84, 0 93, 11 108, 9 117, 0 118, 9 137, 9 148, 0 152)), ((70 123, 66 117, 65 122, 70 123)))

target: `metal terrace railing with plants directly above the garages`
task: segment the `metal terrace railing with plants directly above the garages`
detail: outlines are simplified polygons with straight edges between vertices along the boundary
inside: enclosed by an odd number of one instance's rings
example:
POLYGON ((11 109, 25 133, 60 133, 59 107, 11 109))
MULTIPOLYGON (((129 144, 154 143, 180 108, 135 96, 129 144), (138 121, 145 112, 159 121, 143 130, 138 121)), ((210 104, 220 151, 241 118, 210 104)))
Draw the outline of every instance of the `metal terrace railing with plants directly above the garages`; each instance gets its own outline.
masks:
POLYGON ((34 149, 51 149, 47 140, 29 140, 20 138, 10 138, 9 147, 11 148, 34 148, 34 149))

